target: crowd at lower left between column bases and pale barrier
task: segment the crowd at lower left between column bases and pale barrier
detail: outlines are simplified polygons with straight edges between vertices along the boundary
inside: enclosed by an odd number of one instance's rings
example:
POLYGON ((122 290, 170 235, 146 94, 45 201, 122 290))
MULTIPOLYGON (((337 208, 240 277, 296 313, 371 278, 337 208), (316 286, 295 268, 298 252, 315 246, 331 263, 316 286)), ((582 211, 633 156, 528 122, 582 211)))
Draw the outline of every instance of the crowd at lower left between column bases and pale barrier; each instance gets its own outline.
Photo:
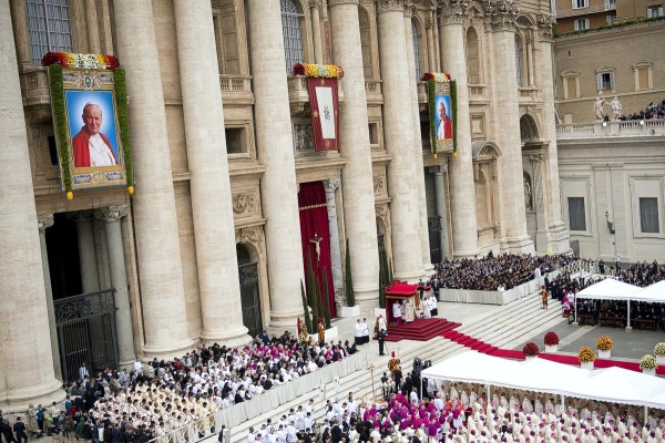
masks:
POLYGON ((348 341, 314 342, 288 331, 269 338, 264 331, 241 348, 215 343, 171 361, 155 358, 143 364, 136 359, 130 371, 108 369, 91 377, 83 363, 80 380, 66 389, 64 409, 55 403, 30 405, 27 430, 94 443, 145 443, 209 418, 203 433, 211 434, 216 410, 249 401, 355 352, 356 344, 348 341))

